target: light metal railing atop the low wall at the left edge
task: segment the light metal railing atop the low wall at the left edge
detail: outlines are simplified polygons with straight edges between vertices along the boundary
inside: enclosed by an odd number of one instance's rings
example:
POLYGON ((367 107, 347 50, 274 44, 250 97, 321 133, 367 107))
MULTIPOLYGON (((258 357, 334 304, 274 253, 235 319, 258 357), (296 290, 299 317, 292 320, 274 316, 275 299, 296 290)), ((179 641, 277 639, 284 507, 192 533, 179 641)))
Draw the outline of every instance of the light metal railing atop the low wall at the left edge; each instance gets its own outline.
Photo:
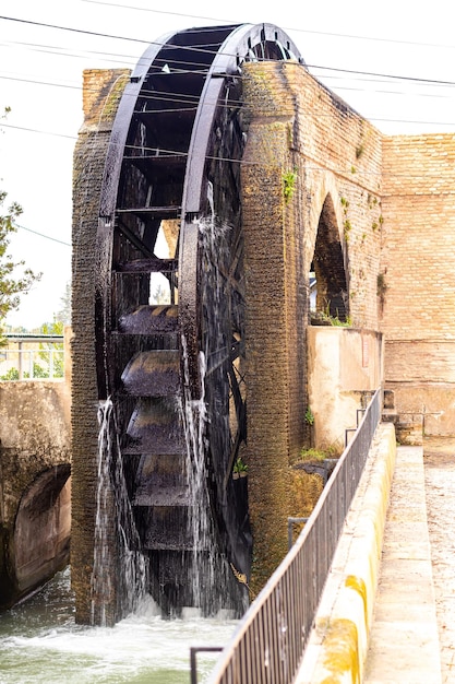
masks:
POLYGON ((61 380, 63 335, 7 334, 0 347, 0 380, 61 380))

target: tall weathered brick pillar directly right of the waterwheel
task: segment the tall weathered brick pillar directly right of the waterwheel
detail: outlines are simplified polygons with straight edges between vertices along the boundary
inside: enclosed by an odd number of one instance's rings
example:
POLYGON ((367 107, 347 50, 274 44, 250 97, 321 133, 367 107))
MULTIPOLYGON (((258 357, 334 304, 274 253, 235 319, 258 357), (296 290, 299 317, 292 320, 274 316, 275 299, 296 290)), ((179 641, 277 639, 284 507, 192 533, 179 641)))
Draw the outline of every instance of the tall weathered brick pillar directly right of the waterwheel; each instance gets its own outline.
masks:
POLYGON ((250 113, 242 163, 246 271, 249 504, 253 595, 287 552, 289 463, 303 444, 304 320, 299 161, 292 152, 295 106, 284 70, 297 63, 246 64, 250 113))

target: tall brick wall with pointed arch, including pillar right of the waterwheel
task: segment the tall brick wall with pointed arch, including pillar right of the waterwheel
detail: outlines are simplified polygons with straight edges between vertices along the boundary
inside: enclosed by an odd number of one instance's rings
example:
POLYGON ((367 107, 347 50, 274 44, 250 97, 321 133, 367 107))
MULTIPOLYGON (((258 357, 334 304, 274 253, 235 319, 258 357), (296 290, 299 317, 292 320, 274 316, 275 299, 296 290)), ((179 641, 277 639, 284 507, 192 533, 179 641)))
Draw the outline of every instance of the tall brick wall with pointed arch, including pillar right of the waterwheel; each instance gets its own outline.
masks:
MULTIPOLYGON (((242 165, 253 591, 286 553, 291 463, 304 446, 309 272, 318 226, 337 239, 358 327, 378 329, 381 137, 298 63, 246 64, 242 165), (284 177, 294 172, 286 201, 284 177)), ((331 247, 331 246, 328 246, 331 247)), ((327 250, 331 251, 330 249, 327 250)))

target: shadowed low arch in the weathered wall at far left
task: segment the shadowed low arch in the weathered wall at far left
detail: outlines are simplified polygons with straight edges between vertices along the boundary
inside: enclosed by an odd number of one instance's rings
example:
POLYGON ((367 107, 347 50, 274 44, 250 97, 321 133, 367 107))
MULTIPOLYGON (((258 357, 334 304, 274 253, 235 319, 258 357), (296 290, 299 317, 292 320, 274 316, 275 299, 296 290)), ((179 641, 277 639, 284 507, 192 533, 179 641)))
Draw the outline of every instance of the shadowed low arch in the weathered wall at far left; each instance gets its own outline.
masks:
POLYGON ((26 594, 69 561, 71 467, 49 468, 24 492, 14 522, 14 565, 20 594, 26 594))

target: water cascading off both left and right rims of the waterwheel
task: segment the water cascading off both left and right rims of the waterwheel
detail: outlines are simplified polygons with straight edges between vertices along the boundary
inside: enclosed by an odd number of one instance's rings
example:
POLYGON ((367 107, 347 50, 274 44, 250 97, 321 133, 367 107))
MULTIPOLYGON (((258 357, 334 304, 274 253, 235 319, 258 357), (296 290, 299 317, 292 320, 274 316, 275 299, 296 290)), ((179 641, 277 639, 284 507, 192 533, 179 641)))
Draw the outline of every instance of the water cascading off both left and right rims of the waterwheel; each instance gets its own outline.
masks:
MULTIPOLYGON (((226 334, 220 327, 220 307, 226 306, 225 282, 220 264, 227 263, 229 250, 226 236, 231 228, 216 221, 213 208, 213 189, 208 185, 211 215, 197 222, 204 255, 206 285, 204 287, 204 315, 212 331, 211 342, 199 354, 201 391, 193 399, 190 391, 187 341, 182 335, 182 391, 176 397, 172 412, 178 414, 184 436, 184 499, 188 504, 187 539, 190 543, 181 551, 180 571, 169 587, 151 581, 151 557, 141 542, 141 517, 134 515, 132 502, 136 485, 131 480, 131 467, 124 463, 121 435, 111 398, 99 406, 99 439, 97 461, 96 526, 94 567, 92 574, 92 624, 112 622, 112 594, 117 595, 115 613, 125 615, 136 610, 152 591, 155 601, 169 615, 179 615, 185 608, 199 609, 204 616, 223 611, 239 616, 248 606, 247 576, 237 570, 223 550, 213 524, 209 487, 214 486, 208 462, 207 405, 205 379, 207 361, 226 352, 226 334), (214 334, 214 331, 217 333, 214 334), (130 473, 130 475, 128 474, 130 473), (212 481, 212 483, 211 483, 212 481), (131 495, 133 493, 133 495, 131 495)), ((151 297, 153 295, 151 294, 151 297)), ((215 362, 219 369, 219 361, 215 362)), ((217 368, 212 368, 215 373, 217 368)), ((216 391, 219 391, 217 388, 216 391)), ((229 446, 229 445, 228 445, 229 446)), ((227 447, 226 447, 227 448, 227 447)), ((248 517, 246 483, 242 487, 241 517, 248 517)), ((221 503, 227 506, 227 502, 221 503)), ((144 530, 142 531, 144 532, 144 530)), ((153 562, 153 561, 152 561, 153 562)))

